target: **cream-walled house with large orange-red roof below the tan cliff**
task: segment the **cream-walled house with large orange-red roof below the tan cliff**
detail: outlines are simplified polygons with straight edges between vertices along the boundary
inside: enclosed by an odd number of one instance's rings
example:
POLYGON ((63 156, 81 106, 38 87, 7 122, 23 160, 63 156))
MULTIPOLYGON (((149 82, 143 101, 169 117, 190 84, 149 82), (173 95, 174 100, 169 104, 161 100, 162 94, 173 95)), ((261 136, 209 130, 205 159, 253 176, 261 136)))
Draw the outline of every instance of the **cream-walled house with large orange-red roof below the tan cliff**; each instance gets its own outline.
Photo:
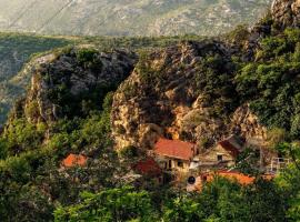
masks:
POLYGON ((160 138, 154 144, 154 155, 164 170, 188 172, 199 148, 190 142, 160 138))

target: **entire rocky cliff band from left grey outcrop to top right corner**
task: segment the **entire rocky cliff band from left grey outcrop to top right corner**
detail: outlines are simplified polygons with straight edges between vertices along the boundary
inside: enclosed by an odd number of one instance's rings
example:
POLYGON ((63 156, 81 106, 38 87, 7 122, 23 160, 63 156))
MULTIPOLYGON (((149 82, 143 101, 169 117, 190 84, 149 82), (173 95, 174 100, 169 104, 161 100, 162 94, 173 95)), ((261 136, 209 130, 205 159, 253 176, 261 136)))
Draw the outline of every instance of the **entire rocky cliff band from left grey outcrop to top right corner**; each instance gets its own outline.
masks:
POLYGON ((242 40, 182 41, 139 58, 93 48, 49 54, 24 70, 32 75, 31 87, 19 105, 23 112, 13 113, 33 123, 84 115, 102 94, 118 88, 111 112, 118 149, 151 149, 159 137, 209 148, 232 133, 263 143, 267 128, 237 90, 236 78, 257 59, 261 39, 298 27, 298 0, 274 1, 270 16, 236 33, 242 40))

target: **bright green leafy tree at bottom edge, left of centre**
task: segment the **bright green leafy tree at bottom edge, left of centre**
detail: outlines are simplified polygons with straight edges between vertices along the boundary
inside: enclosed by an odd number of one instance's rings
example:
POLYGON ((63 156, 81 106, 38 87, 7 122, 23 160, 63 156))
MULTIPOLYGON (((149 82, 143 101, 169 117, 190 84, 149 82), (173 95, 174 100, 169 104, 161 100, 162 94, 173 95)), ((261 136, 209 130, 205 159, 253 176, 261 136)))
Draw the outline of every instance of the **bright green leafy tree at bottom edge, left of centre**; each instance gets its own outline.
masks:
POLYGON ((54 212, 56 221, 156 221, 151 199, 146 191, 137 192, 124 186, 97 194, 82 193, 81 203, 60 206, 54 212))

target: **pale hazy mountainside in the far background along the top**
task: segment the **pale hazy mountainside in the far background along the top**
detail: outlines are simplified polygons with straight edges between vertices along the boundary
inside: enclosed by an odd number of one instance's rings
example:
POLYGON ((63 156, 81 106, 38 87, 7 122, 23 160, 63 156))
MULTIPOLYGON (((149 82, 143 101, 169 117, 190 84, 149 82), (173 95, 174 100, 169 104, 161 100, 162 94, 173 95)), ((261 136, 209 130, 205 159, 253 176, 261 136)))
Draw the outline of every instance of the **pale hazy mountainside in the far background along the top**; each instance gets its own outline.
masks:
POLYGON ((239 23, 253 24, 266 12, 271 0, 68 2, 2 0, 0 30, 67 36, 217 36, 239 23))

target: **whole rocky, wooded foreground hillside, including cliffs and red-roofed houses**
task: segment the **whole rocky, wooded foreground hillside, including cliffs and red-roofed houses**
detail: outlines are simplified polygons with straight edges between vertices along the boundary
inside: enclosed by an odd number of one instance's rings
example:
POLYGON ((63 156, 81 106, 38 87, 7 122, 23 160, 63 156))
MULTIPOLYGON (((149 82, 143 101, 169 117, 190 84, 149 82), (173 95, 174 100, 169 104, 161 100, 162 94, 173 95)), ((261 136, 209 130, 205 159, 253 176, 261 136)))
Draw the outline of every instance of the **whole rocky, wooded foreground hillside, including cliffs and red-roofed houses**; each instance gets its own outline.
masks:
POLYGON ((299 221, 299 14, 276 0, 221 38, 32 58, 0 134, 1 220, 299 221))

